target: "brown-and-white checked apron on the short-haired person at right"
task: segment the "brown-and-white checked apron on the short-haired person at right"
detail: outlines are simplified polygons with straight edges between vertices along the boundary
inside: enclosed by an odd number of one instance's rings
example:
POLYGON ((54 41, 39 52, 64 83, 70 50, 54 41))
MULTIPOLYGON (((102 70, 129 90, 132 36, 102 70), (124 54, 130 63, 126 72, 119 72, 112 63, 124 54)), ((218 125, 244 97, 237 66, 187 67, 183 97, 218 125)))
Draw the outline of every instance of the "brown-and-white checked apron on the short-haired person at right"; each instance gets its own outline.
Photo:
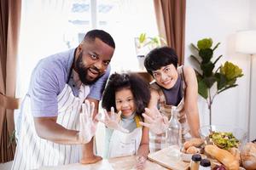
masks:
MULTIPOLYGON (((181 77, 182 83, 183 83, 183 98, 177 105, 177 119, 181 123, 182 126, 182 142, 184 142, 186 139, 190 138, 189 134, 189 124, 187 122, 187 117, 184 112, 184 99, 185 99, 185 92, 186 92, 186 83, 184 81, 184 74, 183 74, 183 66, 177 67, 177 73, 178 76, 181 77)), ((168 120, 170 120, 172 116, 172 106, 173 105, 166 105, 166 97, 159 85, 156 84, 156 82, 150 84, 150 88, 154 88, 157 90, 158 94, 160 95, 160 101, 159 101, 159 107, 160 107, 160 113, 164 116, 168 117, 168 120)), ((155 134, 149 132, 149 149, 150 152, 155 152, 157 150, 161 150, 163 148, 166 148, 166 133, 161 134, 155 134)))

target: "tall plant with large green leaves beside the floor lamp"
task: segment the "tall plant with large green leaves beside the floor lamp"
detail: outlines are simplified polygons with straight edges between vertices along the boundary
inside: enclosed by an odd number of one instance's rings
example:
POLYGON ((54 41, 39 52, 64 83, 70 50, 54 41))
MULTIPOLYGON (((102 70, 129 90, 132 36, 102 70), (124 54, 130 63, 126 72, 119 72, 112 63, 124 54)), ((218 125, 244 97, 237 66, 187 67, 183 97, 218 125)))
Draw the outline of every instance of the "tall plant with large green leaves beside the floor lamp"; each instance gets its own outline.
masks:
POLYGON ((210 125, 212 125, 213 99, 217 94, 238 86, 236 79, 243 76, 241 68, 229 61, 226 61, 224 65, 220 65, 215 69, 218 59, 223 56, 218 56, 218 58, 212 62, 213 52, 218 48, 219 44, 220 42, 212 48, 212 38, 199 40, 197 46, 191 43, 191 47, 195 49, 195 55, 192 54, 190 57, 197 63, 195 72, 198 82, 198 93, 207 100, 210 125), (212 94, 211 88, 213 85, 217 85, 217 88, 212 94))

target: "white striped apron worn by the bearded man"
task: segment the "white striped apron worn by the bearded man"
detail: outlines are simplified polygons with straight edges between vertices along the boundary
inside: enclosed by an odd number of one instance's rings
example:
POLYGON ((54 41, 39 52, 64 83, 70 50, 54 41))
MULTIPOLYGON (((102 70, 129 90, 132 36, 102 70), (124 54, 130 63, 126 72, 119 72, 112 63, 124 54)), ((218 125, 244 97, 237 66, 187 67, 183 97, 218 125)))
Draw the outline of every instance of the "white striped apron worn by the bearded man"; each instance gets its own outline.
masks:
MULTIPOLYGON (((57 96, 57 123, 67 129, 79 130, 81 105, 90 93, 90 87, 81 85, 79 97, 73 95, 67 84, 57 96)), ((12 169, 36 169, 42 166, 58 166, 77 163, 82 157, 81 144, 56 144, 41 139, 36 133, 31 112, 30 97, 26 95, 22 108, 22 128, 12 169)))

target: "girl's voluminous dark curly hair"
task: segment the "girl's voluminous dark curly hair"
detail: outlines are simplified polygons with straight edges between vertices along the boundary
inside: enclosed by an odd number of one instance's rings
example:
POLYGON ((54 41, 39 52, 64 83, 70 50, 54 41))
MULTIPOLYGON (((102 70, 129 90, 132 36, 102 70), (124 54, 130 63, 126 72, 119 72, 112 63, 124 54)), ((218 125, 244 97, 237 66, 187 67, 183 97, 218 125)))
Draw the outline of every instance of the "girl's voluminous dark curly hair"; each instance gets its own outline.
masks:
POLYGON ((136 113, 143 118, 142 113, 150 100, 149 84, 135 73, 114 73, 109 77, 102 95, 102 108, 110 111, 113 106, 116 112, 115 93, 121 89, 131 89, 136 113))

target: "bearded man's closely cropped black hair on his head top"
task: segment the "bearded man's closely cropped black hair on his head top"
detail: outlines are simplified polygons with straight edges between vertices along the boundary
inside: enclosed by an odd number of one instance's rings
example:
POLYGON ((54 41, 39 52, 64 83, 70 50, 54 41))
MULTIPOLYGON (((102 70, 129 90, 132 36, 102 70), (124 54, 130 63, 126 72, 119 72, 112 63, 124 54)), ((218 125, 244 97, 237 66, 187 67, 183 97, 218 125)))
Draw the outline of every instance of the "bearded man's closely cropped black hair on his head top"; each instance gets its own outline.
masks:
POLYGON ((113 37, 111 37, 110 34, 108 34, 108 32, 102 31, 102 30, 88 31, 84 36, 84 41, 86 40, 94 41, 96 37, 102 40, 102 42, 107 43, 110 47, 115 48, 113 37))

